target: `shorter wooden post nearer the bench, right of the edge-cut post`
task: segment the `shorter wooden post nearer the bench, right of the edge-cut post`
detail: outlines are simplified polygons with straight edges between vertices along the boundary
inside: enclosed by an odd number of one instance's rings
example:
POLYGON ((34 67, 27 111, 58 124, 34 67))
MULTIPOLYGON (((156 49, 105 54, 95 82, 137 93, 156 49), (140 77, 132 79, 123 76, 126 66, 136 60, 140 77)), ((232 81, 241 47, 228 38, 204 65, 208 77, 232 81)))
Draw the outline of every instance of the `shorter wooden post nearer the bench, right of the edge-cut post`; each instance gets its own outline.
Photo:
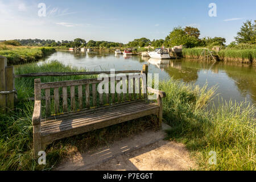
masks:
POLYGON ((6 94, 6 106, 7 109, 14 109, 14 67, 6 67, 6 91, 10 91, 12 93, 6 94))

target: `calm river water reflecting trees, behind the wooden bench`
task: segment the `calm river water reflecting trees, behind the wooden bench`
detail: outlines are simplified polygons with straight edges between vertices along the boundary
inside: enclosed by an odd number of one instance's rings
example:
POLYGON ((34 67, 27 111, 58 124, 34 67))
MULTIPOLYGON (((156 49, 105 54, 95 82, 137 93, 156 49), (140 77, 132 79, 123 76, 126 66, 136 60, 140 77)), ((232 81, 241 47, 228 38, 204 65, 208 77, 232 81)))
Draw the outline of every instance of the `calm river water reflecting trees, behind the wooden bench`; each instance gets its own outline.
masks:
MULTIPOLYGON (((217 93, 223 100, 250 101, 256 104, 256 67, 235 63, 203 63, 196 60, 165 60, 157 64, 155 59, 141 56, 114 55, 109 52, 65 52, 57 51, 46 61, 59 60, 66 65, 74 65, 90 71, 141 70, 148 64, 150 73, 159 73, 161 80, 173 77, 187 83, 203 86, 217 85, 217 93)), ((218 103, 221 98, 216 97, 218 103)))

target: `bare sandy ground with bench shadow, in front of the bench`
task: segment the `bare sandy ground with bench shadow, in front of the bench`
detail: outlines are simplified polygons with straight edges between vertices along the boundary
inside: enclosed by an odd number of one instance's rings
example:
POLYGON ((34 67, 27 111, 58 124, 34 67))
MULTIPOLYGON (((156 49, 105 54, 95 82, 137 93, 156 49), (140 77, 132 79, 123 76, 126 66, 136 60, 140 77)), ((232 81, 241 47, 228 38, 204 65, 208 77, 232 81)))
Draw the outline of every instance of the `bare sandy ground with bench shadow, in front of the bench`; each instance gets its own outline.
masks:
MULTIPOLYGON (((163 125, 163 129, 168 126, 163 125)), ((163 130, 145 131, 109 146, 77 154, 55 170, 180 171, 196 168, 184 144, 163 140, 163 130)))

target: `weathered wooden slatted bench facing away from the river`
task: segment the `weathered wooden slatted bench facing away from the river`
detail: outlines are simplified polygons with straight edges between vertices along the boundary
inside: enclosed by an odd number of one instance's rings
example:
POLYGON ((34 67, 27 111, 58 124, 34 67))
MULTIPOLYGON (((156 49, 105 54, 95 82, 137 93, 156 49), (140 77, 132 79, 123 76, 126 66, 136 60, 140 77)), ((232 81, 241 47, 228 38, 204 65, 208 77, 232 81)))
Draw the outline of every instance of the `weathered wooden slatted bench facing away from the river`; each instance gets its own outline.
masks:
MULTIPOLYGON (((122 83, 127 85, 127 90, 129 85, 133 86, 133 91, 139 88, 138 92, 133 94, 116 92, 99 94, 96 88, 101 81, 97 78, 46 83, 35 79, 35 107, 32 117, 33 155, 36 157, 39 151, 44 150, 47 144, 54 140, 146 115, 157 115, 160 126, 162 98, 165 97, 165 93, 147 88, 147 85, 143 84, 147 82, 147 71, 147 65, 143 65, 143 70, 137 72, 137 77, 129 79, 127 76, 126 80, 122 77, 121 80, 115 81, 115 84, 123 81, 122 83), (159 95, 158 103, 148 101, 147 92, 144 90, 159 95)), ((127 73, 127 71, 123 72, 127 73)))

